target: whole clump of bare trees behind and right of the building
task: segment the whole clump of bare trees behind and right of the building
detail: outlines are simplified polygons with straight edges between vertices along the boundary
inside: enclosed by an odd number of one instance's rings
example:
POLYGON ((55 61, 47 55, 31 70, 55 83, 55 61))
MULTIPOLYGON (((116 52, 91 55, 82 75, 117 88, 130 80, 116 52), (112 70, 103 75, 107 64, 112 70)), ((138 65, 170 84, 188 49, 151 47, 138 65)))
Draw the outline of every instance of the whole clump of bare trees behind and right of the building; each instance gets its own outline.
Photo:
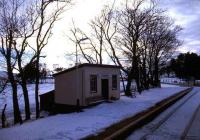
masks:
POLYGON ((159 86, 161 63, 170 58, 180 45, 177 39, 180 28, 173 28, 174 24, 165 11, 158 9, 154 1, 135 0, 129 3, 127 0, 124 8, 114 10, 106 7, 90 25, 94 29, 92 37, 74 27, 74 42, 89 63, 102 62, 102 50, 107 52, 127 76, 127 96, 131 96, 133 80, 139 93, 150 86, 159 86), (89 45, 80 44, 82 38, 88 38, 89 45), (96 55, 88 54, 88 50, 96 55))

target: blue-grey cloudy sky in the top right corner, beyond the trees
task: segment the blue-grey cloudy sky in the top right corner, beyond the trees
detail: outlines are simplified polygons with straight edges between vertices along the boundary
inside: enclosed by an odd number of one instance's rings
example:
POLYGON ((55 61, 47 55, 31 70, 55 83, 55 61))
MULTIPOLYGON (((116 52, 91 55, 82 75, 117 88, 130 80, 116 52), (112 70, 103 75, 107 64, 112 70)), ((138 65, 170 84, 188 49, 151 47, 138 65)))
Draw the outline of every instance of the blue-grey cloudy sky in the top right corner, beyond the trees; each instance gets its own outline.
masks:
POLYGON ((180 34, 184 43, 179 51, 200 52, 200 0, 160 0, 159 5, 184 29, 180 34))

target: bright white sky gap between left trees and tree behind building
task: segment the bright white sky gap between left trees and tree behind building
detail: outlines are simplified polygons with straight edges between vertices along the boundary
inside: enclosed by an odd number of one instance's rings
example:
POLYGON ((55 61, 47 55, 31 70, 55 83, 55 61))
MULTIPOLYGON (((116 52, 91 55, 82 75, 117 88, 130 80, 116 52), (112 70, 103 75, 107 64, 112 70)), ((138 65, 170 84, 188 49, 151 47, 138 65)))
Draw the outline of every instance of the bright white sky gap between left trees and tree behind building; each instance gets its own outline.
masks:
POLYGON ((65 68, 74 66, 74 62, 69 57, 66 58, 68 53, 75 51, 75 44, 69 40, 69 37, 72 37, 70 32, 73 27, 72 23, 74 22, 83 31, 87 31, 88 23, 108 3, 111 3, 111 0, 74 0, 74 4, 67 8, 61 19, 55 24, 53 36, 44 50, 46 58, 43 62, 46 62, 50 69, 53 64, 65 68))

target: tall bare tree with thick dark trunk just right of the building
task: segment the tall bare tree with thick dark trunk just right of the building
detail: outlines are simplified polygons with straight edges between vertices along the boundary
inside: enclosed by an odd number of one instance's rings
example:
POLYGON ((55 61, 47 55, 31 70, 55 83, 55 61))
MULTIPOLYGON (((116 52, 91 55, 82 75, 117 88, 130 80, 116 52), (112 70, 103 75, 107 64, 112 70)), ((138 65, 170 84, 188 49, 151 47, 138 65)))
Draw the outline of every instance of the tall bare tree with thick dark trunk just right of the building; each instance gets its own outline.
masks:
MULTIPOLYGON (((140 37, 146 29, 146 24, 154 14, 154 5, 150 5, 147 8, 141 8, 145 0, 134 1, 132 5, 125 6, 125 9, 118 11, 116 22, 118 22, 117 36, 115 37, 115 43, 117 47, 111 45, 111 50, 116 62, 122 65, 116 52, 121 52, 126 62, 128 62, 126 70, 127 73, 127 85, 126 95, 131 96, 131 82, 135 79, 137 89, 141 92, 140 83, 140 55, 141 45, 140 37)), ((123 64, 124 65, 124 64, 123 64)), ((122 66, 123 67, 123 66, 122 66)))

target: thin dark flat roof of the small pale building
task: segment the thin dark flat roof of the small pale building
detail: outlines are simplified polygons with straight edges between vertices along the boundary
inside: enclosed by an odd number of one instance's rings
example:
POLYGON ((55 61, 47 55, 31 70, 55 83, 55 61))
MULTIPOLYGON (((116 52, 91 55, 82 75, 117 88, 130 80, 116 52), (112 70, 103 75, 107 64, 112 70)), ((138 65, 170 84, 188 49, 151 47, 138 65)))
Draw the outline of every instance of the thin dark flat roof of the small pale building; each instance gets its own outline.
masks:
POLYGON ((66 72, 70 72, 70 71, 75 70, 76 68, 82 68, 82 67, 103 67, 103 68, 118 68, 118 69, 120 68, 119 66, 116 66, 116 65, 105 65, 105 64, 90 64, 90 63, 84 63, 84 64, 80 64, 80 65, 78 65, 78 66, 74 66, 74 67, 72 67, 72 68, 66 69, 66 70, 64 70, 64 71, 55 73, 55 74, 53 74, 53 76, 57 76, 57 75, 60 75, 60 74, 66 73, 66 72))

